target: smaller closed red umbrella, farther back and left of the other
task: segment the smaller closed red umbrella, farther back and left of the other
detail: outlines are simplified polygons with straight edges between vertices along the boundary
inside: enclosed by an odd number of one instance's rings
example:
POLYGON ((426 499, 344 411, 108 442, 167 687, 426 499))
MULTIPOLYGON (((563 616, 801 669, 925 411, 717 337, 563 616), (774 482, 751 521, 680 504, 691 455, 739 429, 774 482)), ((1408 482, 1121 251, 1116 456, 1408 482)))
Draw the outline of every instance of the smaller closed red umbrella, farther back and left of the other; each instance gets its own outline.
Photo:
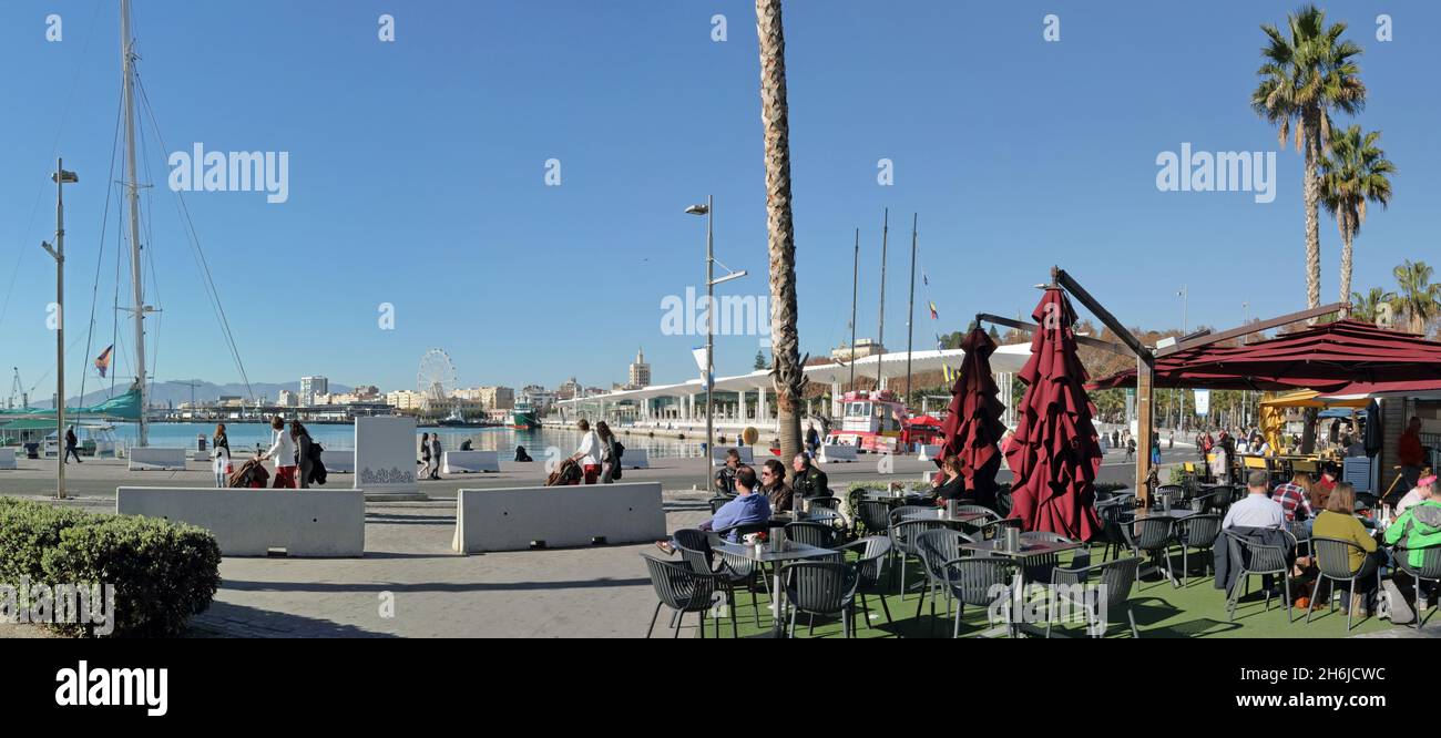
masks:
POLYGON ((977 327, 961 342, 965 356, 961 359, 961 376, 951 386, 951 406, 941 424, 941 460, 955 454, 961 463, 961 479, 967 494, 987 507, 996 506, 996 473, 1000 471, 1000 448, 996 444, 1006 425, 1000 414, 1006 409, 996 398, 996 378, 990 370, 990 355, 996 342, 977 327))

